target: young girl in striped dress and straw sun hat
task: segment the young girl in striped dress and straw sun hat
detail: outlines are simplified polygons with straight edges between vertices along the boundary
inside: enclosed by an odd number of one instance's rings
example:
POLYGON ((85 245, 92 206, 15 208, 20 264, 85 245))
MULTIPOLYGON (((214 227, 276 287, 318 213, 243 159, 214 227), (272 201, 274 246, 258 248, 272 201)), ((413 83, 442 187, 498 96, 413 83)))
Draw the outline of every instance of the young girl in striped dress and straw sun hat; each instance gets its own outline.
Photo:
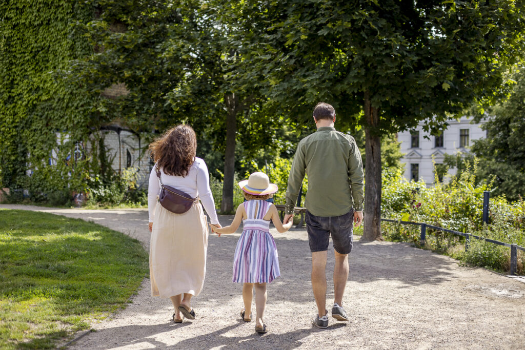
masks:
POLYGON ((279 232, 286 232, 292 222, 282 225, 275 205, 266 199, 277 192, 277 185, 270 184, 265 173, 253 173, 247 180, 239 182, 247 201, 237 207, 232 225, 223 228, 212 226, 217 235, 232 234, 243 220, 243 234, 240 235, 233 263, 233 281, 243 283, 244 310, 240 312, 245 322, 251 321, 251 299, 255 286, 255 308, 257 311, 255 331, 266 333, 262 314, 266 306, 266 283, 281 274, 274 238, 270 234, 270 219, 279 232))

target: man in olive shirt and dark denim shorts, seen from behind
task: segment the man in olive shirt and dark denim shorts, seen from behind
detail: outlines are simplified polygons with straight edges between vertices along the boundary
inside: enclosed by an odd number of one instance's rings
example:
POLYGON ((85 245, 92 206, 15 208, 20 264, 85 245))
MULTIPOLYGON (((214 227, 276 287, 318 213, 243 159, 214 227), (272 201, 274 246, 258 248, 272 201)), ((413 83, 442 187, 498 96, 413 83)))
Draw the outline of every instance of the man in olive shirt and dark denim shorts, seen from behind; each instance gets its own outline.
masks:
POLYGON ((327 328, 325 268, 330 236, 335 253, 332 317, 348 321, 342 302, 353 243, 352 221, 355 227, 363 221, 363 162, 353 137, 333 127, 335 110, 330 104, 319 102, 313 110, 313 121, 317 132, 299 142, 293 157, 283 222, 286 224, 293 218, 293 207, 306 172, 306 230, 312 252, 313 296, 318 309, 313 324, 327 328))

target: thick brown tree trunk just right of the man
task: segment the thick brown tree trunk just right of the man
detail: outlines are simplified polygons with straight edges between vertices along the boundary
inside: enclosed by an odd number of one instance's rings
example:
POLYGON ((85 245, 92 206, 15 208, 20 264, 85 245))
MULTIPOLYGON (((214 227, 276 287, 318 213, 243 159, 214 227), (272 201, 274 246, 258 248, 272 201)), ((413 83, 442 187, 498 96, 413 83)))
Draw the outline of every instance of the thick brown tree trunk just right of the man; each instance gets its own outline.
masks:
POLYGON ((364 94, 365 116, 365 188, 364 223, 361 241, 382 239, 381 236, 381 136, 375 126, 379 124, 379 111, 372 107, 370 93, 364 94))

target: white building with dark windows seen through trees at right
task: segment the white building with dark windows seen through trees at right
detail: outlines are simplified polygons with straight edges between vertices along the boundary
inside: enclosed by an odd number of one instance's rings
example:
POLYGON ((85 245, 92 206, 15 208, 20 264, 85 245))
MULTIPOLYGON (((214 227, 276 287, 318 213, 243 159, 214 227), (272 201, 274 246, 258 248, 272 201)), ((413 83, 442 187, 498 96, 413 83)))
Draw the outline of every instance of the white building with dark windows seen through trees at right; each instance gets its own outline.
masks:
MULTIPOLYGON (((435 178, 433 159, 436 164, 442 164, 445 153, 465 152, 472 140, 482 139, 487 134, 481 130, 480 123, 473 123, 467 116, 459 121, 449 120, 448 124, 448 129, 439 136, 424 132, 423 122, 415 130, 398 133, 397 141, 401 142, 404 154, 401 160, 405 163, 404 177, 408 181, 423 178, 427 186, 432 185, 435 178)), ((455 169, 450 169, 449 174, 454 175, 455 169)))

